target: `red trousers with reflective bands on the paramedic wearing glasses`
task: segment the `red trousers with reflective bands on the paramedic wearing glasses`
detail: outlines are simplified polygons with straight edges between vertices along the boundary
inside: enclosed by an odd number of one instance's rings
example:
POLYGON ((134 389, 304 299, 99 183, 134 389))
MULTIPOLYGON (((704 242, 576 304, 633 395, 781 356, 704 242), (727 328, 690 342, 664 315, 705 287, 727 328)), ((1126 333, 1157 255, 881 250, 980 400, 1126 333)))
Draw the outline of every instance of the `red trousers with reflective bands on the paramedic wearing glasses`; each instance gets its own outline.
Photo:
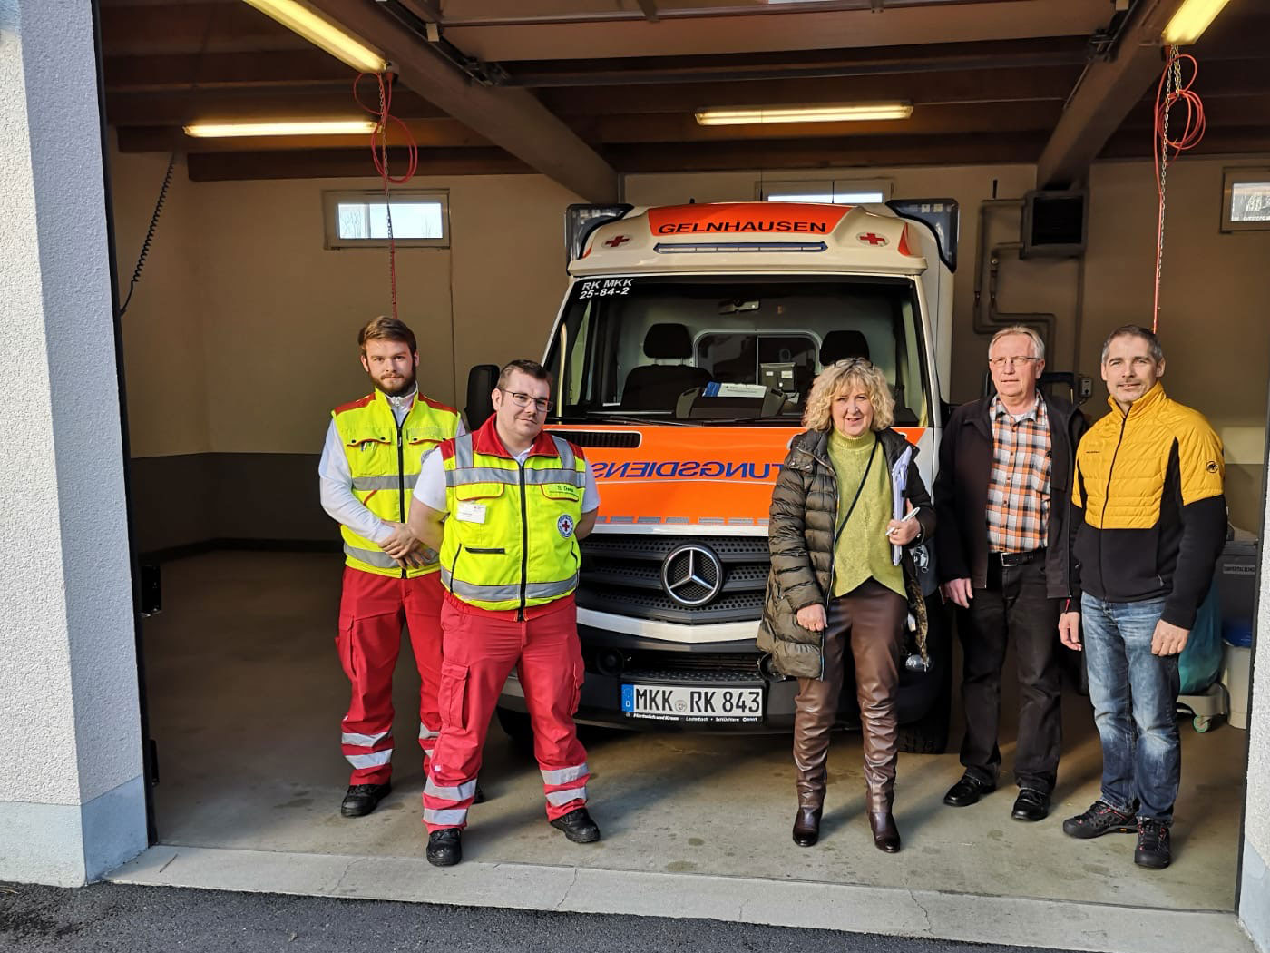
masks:
POLYGON ((441 737, 423 788, 428 832, 465 827, 476 790, 481 750, 494 705, 517 670, 533 724, 533 755, 542 773, 547 818, 587 803, 587 752, 578 741, 584 668, 573 596, 525 610, 489 611, 447 593, 441 610, 441 737))

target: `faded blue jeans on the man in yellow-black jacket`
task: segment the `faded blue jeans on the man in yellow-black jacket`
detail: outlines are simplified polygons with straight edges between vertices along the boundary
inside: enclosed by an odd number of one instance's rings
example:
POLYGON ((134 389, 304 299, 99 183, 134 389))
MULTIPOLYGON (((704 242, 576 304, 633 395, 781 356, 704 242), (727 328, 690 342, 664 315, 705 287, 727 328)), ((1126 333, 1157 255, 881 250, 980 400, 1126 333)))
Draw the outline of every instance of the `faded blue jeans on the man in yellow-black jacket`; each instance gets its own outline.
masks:
POLYGON ((1165 600, 1081 597, 1085 665, 1102 740, 1102 799, 1116 811, 1172 821, 1181 780, 1177 656, 1151 654, 1165 600))

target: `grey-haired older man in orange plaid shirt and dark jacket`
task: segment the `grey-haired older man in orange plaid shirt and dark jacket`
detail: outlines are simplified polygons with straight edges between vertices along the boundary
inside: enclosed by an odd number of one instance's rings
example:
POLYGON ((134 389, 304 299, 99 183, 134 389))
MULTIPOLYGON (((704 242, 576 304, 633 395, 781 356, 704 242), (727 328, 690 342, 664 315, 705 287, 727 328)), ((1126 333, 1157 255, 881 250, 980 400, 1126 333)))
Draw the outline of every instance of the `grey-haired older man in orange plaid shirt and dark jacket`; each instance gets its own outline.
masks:
POLYGON ((997 393, 952 413, 935 480, 937 565, 944 598, 958 606, 966 723, 965 774, 944 803, 968 807, 997 787, 1001 670, 1012 638, 1020 704, 1011 817, 1040 821, 1062 746, 1059 615, 1080 605, 1069 497, 1086 424, 1072 404, 1038 391, 1045 344, 1031 328, 998 332, 988 367, 997 393))

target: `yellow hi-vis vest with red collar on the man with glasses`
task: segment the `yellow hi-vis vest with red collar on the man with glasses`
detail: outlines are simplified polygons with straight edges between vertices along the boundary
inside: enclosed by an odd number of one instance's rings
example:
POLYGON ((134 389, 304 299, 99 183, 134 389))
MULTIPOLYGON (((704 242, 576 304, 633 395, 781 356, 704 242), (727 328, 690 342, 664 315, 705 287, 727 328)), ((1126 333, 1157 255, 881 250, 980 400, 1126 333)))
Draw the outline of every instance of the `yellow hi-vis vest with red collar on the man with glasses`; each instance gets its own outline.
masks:
POLYGON ((441 583, 489 610, 527 609, 578 587, 578 540, 587 460, 566 440, 538 435, 518 464, 494 418, 441 447, 446 529, 441 583))

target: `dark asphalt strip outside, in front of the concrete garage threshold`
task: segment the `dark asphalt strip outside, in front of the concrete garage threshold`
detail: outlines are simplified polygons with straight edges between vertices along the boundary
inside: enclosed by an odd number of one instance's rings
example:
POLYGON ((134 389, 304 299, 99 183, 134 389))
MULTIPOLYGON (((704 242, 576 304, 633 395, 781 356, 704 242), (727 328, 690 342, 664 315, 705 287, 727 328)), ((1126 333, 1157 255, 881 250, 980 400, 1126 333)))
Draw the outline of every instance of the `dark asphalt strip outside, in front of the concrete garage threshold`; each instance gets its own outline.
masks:
MULTIPOLYGON (((547 914, 99 883, 80 889, 0 884, 0 949, 1010 953, 1020 948, 719 920, 547 914)), ((1033 948, 1029 953, 1046 950, 1033 948)))

